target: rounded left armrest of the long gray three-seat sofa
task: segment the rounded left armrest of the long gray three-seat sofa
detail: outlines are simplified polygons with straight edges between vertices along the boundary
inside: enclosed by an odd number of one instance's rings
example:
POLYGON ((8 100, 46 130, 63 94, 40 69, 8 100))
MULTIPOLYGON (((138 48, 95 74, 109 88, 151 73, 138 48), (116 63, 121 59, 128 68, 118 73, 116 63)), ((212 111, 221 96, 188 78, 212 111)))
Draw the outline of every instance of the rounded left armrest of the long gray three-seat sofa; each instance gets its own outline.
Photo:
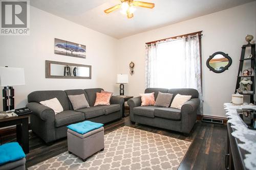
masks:
POLYGON ((27 107, 33 111, 32 114, 38 116, 42 120, 54 120, 55 119, 55 113, 54 111, 44 105, 41 105, 36 102, 31 102, 27 104, 27 107))

